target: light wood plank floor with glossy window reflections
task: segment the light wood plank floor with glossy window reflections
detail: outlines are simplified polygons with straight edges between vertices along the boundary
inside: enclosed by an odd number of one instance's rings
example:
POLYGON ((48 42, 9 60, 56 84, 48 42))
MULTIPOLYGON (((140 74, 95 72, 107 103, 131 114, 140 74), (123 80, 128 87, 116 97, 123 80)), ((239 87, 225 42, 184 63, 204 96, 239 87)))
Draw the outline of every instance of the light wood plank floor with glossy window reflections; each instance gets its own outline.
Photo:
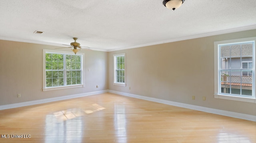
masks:
POLYGON ((256 122, 105 93, 0 110, 0 134, 0 143, 256 143, 256 122))

